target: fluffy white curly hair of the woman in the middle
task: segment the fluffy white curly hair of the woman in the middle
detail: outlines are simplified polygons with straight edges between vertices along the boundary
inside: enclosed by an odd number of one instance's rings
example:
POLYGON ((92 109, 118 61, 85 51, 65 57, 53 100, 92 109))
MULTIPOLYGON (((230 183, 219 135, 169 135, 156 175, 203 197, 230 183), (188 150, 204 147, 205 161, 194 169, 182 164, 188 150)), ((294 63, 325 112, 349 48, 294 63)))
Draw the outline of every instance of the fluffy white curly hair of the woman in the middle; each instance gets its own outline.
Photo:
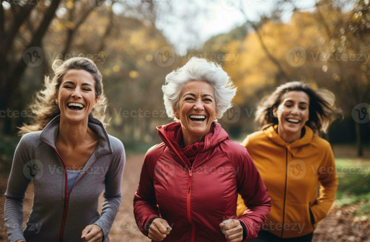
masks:
POLYGON ((205 81, 215 90, 217 117, 232 107, 231 100, 236 93, 236 87, 230 76, 221 68, 221 65, 204 58, 192 57, 183 66, 166 75, 165 85, 162 86, 164 105, 168 117, 175 117, 180 93, 185 83, 189 81, 205 81))

